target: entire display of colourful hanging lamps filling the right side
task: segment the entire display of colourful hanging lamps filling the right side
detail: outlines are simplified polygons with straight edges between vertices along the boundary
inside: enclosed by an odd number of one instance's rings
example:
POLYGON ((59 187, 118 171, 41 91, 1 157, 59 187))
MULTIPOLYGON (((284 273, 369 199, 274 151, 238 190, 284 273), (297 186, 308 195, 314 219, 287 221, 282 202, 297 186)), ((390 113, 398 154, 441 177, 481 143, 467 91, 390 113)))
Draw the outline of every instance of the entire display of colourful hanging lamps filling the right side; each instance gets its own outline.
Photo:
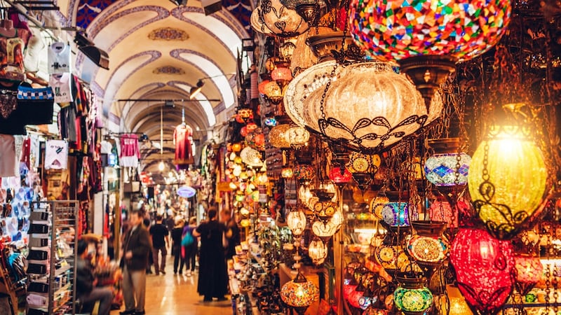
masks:
POLYGON ((559 7, 259 1, 220 179, 259 265, 236 279, 296 314, 554 314, 559 7))

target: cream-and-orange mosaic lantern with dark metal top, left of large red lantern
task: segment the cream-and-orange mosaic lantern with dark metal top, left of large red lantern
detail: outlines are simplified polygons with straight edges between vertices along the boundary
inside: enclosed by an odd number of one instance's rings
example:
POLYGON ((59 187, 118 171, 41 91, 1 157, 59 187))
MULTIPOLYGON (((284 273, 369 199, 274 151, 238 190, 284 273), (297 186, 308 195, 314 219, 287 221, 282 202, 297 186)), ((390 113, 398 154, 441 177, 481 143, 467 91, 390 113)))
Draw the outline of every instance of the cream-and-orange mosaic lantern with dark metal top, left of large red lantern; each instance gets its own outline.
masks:
POLYGON ((442 265, 450 250, 448 239, 443 235, 446 223, 413 221, 411 225, 416 234, 407 241, 407 252, 431 281, 435 269, 442 265))

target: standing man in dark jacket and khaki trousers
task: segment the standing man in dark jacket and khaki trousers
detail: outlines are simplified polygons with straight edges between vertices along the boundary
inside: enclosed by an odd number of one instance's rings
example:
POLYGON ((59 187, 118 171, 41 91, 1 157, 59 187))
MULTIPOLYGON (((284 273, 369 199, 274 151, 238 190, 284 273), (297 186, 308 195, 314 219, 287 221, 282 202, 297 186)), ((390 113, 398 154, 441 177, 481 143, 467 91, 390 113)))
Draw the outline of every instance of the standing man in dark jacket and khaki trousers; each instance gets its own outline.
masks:
POLYGON ((148 230, 142 225, 140 211, 130 211, 130 231, 123 245, 123 295, 125 311, 121 315, 144 315, 146 297, 146 267, 151 241, 148 230))

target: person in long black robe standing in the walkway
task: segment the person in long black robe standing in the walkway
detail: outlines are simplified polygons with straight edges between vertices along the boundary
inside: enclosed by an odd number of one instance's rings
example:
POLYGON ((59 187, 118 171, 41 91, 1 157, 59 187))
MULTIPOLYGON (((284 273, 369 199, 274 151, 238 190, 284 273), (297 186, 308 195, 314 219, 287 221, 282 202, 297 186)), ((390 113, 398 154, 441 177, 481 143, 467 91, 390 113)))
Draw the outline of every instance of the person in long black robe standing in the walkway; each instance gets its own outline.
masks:
POLYGON ((222 233, 226 227, 217 221, 216 209, 208 210, 208 221, 201 223, 193 231, 194 237, 201 237, 201 248, 198 256, 198 286, 199 295, 204 295, 204 302, 212 301, 216 297, 219 301, 226 300, 228 293, 226 259, 222 246, 222 233))

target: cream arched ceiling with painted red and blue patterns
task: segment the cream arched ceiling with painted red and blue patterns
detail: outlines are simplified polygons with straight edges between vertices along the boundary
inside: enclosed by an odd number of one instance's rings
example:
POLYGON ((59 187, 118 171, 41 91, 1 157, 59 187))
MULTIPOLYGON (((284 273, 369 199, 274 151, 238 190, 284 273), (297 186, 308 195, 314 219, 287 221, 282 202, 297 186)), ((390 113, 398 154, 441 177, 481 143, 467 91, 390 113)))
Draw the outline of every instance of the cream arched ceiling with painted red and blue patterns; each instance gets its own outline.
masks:
MULTIPOLYGON (((119 122, 121 131, 145 132, 158 141, 163 109, 163 138, 172 139, 184 110, 185 122, 197 131, 194 138, 203 141, 207 130, 222 123, 217 114, 236 105, 235 73, 242 38, 250 37, 250 3, 223 0, 222 10, 211 15, 197 0, 187 6, 168 0, 59 0, 58 6, 63 25, 86 29, 90 41, 109 54, 109 70, 92 66, 81 53, 76 69, 91 77, 104 114, 119 122), (200 78, 205 85, 196 101, 189 101, 200 78), (178 102, 170 108, 161 102, 165 99, 178 102)), ((165 141, 164 147, 170 151, 173 143, 165 141)), ((148 146, 147 171, 157 169, 149 162, 151 151, 148 146)))

